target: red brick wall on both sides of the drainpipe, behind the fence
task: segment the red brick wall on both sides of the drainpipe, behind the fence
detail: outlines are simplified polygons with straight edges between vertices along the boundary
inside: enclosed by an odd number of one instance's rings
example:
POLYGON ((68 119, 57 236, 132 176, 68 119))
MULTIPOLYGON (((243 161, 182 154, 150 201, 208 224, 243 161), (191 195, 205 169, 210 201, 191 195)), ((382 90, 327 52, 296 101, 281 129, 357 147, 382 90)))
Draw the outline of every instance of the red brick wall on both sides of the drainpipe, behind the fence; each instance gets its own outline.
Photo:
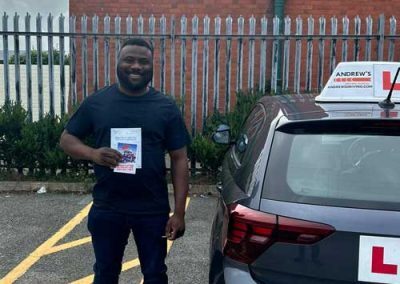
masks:
MULTIPOLYGON (((159 29, 159 18, 161 15, 165 15, 167 18, 167 32, 169 32, 170 26, 170 18, 171 16, 175 16, 176 20, 176 32, 180 33, 180 17, 182 15, 186 15, 188 18, 188 33, 191 33, 191 19, 194 15, 199 16, 199 34, 203 33, 202 27, 203 22, 202 19, 205 15, 208 15, 211 18, 210 22, 210 32, 214 32, 214 18, 219 15, 222 18, 222 29, 221 33, 225 33, 225 18, 228 15, 233 17, 233 33, 237 33, 237 18, 242 15, 246 19, 245 24, 245 34, 248 33, 248 19, 251 15, 254 15, 257 19, 257 30, 256 33, 258 34, 260 31, 260 19, 266 15, 268 18, 268 33, 271 33, 272 29, 272 15, 273 15, 273 0, 268 1, 261 1, 261 0, 219 0, 219 1, 211 1, 211 0, 188 0, 188 1, 170 1, 170 0, 138 0, 138 1, 131 1, 131 0, 87 0, 87 1, 78 1, 78 0, 70 0, 70 15, 77 16, 77 30, 80 30, 80 17, 82 15, 87 15, 91 19, 92 16, 95 14, 99 16, 99 32, 103 31, 103 18, 106 14, 111 16, 111 32, 114 31, 114 17, 119 15, 122 17, 122 33, 125 32, 125 17, 131 15, 134 18, 134 31, 137 31, 137 17, 142 15, 145 20, 144 30, 145 33, 148 31, 148 18, 151 15, 156 17, 156 26, 157 31, 159 29)), ((374 19, 374 33, 376 33, 377 29, 377 20, 378 16, 382 13, 385 14, 387 18, 386 22, 386 32, 388 32, 388 18, 393 14, 394 11, 399 11, 400 9, 400 2, 399 1, 389 1, 389 0, 379 0, 379 1, 367 1, 367 0, 360 0, 357 2, 354 1, 321 1, 321 0, 287 0, 285 4, 285 15, 289 15, 292 18, 292 33, 295 31, 295 18, 300 15, 303 18, 303 34, 307 33, 307 17, 312 15, 315 20, 315 33, 319 33, 319 24, 318 19, 320 16, 325 16, 327 23, 327 34, 330 34, 330 17, 336 16, 338 17, 338 34, 342 33, 342 17, 347 15, 350 19, 350 34, 354 33, 354 17, 359 15, 362 19, 362 26, 361 26, 361 33, 365 33, 365 17, 371 15, 374 19)), ((88 31, 91 31, 91 20, 88 21, 88 31)), ((157 33, 157 32, 156 32, 157 33)), ((79 42, 79 40, 78 40, 79 42)), ((337 42, 337 62, 341 60, 341 40, 337 42)), ((349 57, 348 59, 352 59, 352 43, 349 42, 349 57)), ((159 45, 159 41, 155 41, 155 45, 159 45)), ((92 50, 91 47, 93 46, 92 40, 89 39, 88 42, 89 51, 88 51, 88 67, 89 67, 89 93, 93 91, 93 75, 92 75, 92 50)), ((170 44, 169 41, 166 41, 166 64, 167 67, 170 65, 170 44)), ((179 95, 180 93, 180 41, 177 40, 176 50, 175 50, 175 95, 179 95)), ((221 41, 221 54, 220 54, 220 105, 224 105, 225 100, 225 41, 221 41)), ((100 65, 100 86, 104 85, 104 68, 103 66, 103 58, 104 58, 104 42, 102 39, 99 40, 99 65, 100 65)), ((212 94, 213 94, 213 52, 214 52, 214 41, 210 40, 210 61, 209 61, 209 109, 212 108, 212 94)), ((294 47, 295 44, 292 41, 291 43, 291 63, 290 63, 290 82, 289 87, 293 87, 293 72, 294 72, 294 47)), ((387 47, 387 45, 386 45, 387 47)), ((111 79, 114 82, 114 41, 111 42, 111 79)), ((268 51, 267 51, 267 62, 268 64, 271 63, 271 43, 268 44, 268 51)), ((302 78, 301 78, 301 86, 305 86, 305 55, 306 55, 306 42, 303 41, 302 47, 302 78)), ((373 51, 376 49, 376 45, 372 47, 373 51)), ((157 46, 156 46, 157 50, 157 46)), ((202 42, 199 41, 199 56, 198 56, 198 88, 197 88, 197 112, 201 113, 201 93, 202 93, 202 42)), ((82 82, 82 67, 81 67, 81 50, 79 48, 78 43, 78 66, 77 66, 77 80, 78 80, 78 92, 81 96, 81 82, 82 82)), ((256 43, 256 54, 260 52, 259 42, 256 43)), ((364 56, 364 49, 361 49, 361 57, 363 59, 364 56)), ((396 56, 398 57, 399 53, 397 52, 396 56)), ((248 56, 248 43, 244 45, 244 52, 243 55, 245 58, 248 56)), ((325 45, 325 57, 329 56, 329 42, 325 45)), ((236 86, 236 65, 237 65, 237 41, 233 40, 232 42, 232 73, 231 73, 231 93, 234 94, 235 86, 236 86)), ((386 57, 385 57, 386 58, 386 57)), ((257 59, 257 56, 256 56, 257 59)), ((376 59, 374 56, 372 59, 376 59)), ((398 58, 397 58, 398 59, 398 58)), ((160 78, 160 70, 158 68, 159 64, 159 53, 156 52, 155 54, 155 73, 154 73, 154 81, 156 86, 159 85, 159 78, 160 78)), ((328 64, 325 61, 325 81, 328 78, 328 64)), ((259 62, 256 60, 256 68, 255 68, 255 82, 258 82, 259 78, 259 62)), ((318 67, 318 42, 314 41, 314 57, 313 57, 313 85, 312 88, 316 89, 316 75, 317 75, 317 67, 318 67)), ((170 89, 170 74, 171 70, 167 68, 166 70, 166 88, 167 90, 170 89)), ((270 67, 267 67, 267 81, 270 78, 270 67)), ((244 60, 243 66, 243 87, 247 87, 247 61, 244 60)), ((190 94, 191 94, 191 41, 187 41, 187 57, 186 57, 186 121, 189 123, 190 121, 190 94)), ((231 104, 235 102, 234 98, 232 99, 231 104)), ((220 108, 223 109, 222 107, 220 108)), ((197 126, 200 126, 200 117, 198 117, 197 126)))

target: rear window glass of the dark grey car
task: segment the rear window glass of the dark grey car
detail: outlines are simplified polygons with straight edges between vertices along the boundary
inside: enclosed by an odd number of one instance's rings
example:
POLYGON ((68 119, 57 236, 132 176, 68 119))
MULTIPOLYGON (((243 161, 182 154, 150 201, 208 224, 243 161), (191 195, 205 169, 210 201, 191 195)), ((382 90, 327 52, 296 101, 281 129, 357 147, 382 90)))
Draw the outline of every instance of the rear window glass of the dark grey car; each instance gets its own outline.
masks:
POLYGON ((399 136, 291 132, 275 134, 264 198, 400 209, 399 136))

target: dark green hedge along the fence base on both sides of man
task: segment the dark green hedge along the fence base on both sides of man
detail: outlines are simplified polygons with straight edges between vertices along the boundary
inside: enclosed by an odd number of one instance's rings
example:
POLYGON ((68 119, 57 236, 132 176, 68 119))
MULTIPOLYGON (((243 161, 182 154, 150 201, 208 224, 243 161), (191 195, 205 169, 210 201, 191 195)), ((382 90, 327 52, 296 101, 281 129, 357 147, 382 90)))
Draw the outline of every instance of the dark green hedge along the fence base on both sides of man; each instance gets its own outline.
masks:
MULTIPOLYGON (((189 154, 201 164, 208 175, 215 177, 218 174, 223 156, 229 147, 212 141, 211 137, 217 126, 228 124, 231 127, 231 136, 235 139, 250 110, 261 96, 259 92, 239 92, 233 110, 227 114, 217 112, 208 117, 202 135, 193 138, 189 154)), ((77 106, 74 107, 76 108, 77 106)), ((8 173, 17 169, 20 175, 24 173, 24 169, 29 169, 29 175, 40 179, 57 177, 82 180, 90 177, 89 171, 92 167, 88 161, 72 160, 59 147, 59 138, 68 119, 68 115, 52 117, 47 114, 38 121, 30 122, 27 111, 20 103, 7 101, 0 108, 2 169, 8 173)), ((91 137, 83 142, 94 145, 91 137)))

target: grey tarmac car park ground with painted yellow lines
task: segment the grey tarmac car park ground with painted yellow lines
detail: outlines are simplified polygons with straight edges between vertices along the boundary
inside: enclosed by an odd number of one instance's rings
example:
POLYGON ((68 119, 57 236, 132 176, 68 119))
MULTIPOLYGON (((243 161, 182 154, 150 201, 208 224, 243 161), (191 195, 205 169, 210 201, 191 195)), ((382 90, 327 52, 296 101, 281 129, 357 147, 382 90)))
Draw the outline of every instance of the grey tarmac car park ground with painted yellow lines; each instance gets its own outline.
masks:
MULTIPOLYGON (((170 196, 171 208, 173 197, 170 196)), ((0 283, 91 283, 94 255, 84 193, 0 192, 0 283)), ((185 236, 169 243, 169 283, 208 283, 210 230, 217 199, 192 193, 185 236)), ((120 283, 141 283, 133 238, 120 283)))

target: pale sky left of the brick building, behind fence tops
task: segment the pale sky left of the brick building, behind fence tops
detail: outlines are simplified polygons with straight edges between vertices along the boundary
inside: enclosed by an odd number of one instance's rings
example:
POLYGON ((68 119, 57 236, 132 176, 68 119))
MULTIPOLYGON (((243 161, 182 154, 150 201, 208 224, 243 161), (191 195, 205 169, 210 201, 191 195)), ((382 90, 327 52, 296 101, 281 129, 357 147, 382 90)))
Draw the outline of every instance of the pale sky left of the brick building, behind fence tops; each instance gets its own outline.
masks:
MULTIPOLYGON (((58 17, 63 14, 66 17, 64 26, 68 31, 68 0, 0 0, 0 30, 3 30, 3 15, 8 15, 8 29, 13 30, 13 18, 15 13, 19 15, 19 29, 25 30, 25 16, 27 13, 31 15, 31 30, 36 30, 36 16, 38 13, 42 15, 42 30, 47 31, 47 17, 49 13, 53 15, 53 30, 58 31, 58 17)), ((8 47, 14 49, 13 37, 8 37, 8 47)), ((25 49, 24 38, 20 38, 21 50, 25 49)), ((54 45, 58 47, 58 40, 55 38, 54 45)), ((47 49, 47 38, 43 40, 43 47, 47 49)), ((36 48, 36 40, 32 39, 32 48, 36 48)), ((3 41, 0 38, 0 50, 3 49, 3 41)), ((66 49, 68 42, 66 41, 66 49)))

